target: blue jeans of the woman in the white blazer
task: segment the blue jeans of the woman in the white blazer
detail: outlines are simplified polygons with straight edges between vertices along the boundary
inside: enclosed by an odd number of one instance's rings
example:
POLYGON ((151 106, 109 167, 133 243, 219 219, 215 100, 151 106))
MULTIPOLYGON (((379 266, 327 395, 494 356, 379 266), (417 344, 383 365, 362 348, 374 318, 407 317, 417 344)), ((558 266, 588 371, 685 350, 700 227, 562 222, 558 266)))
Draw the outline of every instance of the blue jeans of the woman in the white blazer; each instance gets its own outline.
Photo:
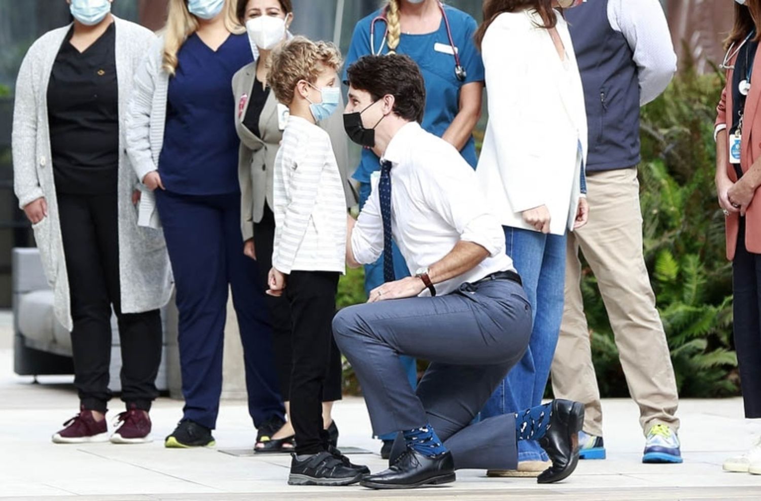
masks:
MULTIPOLYGON (((504 227, 506 252, 521 274, 533 309, 533 329, 526 354, 486 402, 481 417, 523 411, 540 405, 558 344, 565 285, 565 235, 504 227)), ((533 440, 518 442, 518 461, 547 461, 533 440)))

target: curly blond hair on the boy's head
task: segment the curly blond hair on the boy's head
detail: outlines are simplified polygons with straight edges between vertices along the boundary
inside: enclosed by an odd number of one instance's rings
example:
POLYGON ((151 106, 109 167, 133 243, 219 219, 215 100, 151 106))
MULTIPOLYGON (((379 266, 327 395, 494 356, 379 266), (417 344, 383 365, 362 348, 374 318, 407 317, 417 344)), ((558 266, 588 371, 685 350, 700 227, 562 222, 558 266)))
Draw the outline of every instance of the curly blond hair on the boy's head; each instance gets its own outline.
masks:
POLYGON ((272 51, 267 82, 275 98, 288 106, 293 101, 299 81, 314 84, 325 68, 338 71, 342 64, 341 52, 333 43, 313 42, 304 36, 294 36, 272 51))

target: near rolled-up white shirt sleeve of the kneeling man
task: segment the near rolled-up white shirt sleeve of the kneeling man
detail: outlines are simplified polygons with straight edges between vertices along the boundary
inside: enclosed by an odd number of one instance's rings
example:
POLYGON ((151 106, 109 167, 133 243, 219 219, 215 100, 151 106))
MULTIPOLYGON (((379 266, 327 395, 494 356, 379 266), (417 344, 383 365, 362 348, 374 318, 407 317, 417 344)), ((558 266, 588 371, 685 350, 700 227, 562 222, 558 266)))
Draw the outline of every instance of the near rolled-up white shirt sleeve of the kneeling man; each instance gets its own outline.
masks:
POLYGON ((477 243, 491 257, 503 254, 505 233, 479 192, 476 173, 454 147, 418 167, 421 174, 431 169, 420 178, 425 202, 460 233, 460 241, 477 243))

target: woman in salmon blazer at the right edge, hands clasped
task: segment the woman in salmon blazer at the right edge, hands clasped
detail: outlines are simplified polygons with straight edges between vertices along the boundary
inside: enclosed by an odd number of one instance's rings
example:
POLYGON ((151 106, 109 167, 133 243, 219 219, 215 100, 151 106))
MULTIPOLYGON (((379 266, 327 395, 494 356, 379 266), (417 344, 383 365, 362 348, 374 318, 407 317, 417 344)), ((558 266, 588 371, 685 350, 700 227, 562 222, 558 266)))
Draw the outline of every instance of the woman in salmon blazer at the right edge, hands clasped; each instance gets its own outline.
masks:
MULTIPOLYGON (((723 68, 727 84, 716 119, 716 192, 727 219, 732 262, 734 344, 740 364, 745 417, 761 431, 761 2, 734 5, 734 28, 723 68)), ((756 437, 758 438, 758 437, 756 437)), ((724 470, 761 474, 761 440, 724 470)))

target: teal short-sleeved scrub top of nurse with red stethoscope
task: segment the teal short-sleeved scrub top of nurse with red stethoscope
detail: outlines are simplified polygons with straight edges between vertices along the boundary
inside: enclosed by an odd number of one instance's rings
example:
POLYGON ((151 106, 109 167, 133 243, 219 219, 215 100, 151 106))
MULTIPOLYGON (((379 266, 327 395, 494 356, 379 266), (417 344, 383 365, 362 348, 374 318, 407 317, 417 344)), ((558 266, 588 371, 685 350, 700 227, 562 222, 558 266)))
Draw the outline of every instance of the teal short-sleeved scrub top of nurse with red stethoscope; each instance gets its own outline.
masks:
MULTIPOLYGON (((444 11, 449 20, 454 45, 457 46, 460 55, 460 64, 467 71, 465 81, 460 82, 454 75, 454 55, 451 52, 443 52, 446 48, 451 47, 443 17, 441 25, 435 32, 421 35, 403 33, 399 46, 396 47, 397 53, 409 55, 420 67, 425 79, 426 94, 422 128, 439 137, 444 135, 454 117, 460 112, 460 87, 485 80, 481 54, 473 41, 473 33, 478 28, 476 20, 469 14, 448 5, 444 5, 444 11)), ((346 56, 345 68, 349 68, 353 62, 363 55, 368 55, 371 52, 375 54, 380 49, 386 32, 386 22, 376 21, 375 23, 375 46, 372 51, 370 49, 370 25, 374 18, 383 13, 384 9, 375 11, 357 23, 354 36, 352 36, 352 45, 349 46, 349 55, 346 56)), ((388 46, 384 46, 384 54, 387 52, 388 46)), ((343 79, 346 80, 345 71, 343 79)), ((473 140, 473 136, 470 137, 460 153, 475 169, 478 159, 476 158, 476 141, 473 140)), ((378 157, 365 148, 353 177, 359 182, 370 182, 370 175, 379 169, 378 157)))

